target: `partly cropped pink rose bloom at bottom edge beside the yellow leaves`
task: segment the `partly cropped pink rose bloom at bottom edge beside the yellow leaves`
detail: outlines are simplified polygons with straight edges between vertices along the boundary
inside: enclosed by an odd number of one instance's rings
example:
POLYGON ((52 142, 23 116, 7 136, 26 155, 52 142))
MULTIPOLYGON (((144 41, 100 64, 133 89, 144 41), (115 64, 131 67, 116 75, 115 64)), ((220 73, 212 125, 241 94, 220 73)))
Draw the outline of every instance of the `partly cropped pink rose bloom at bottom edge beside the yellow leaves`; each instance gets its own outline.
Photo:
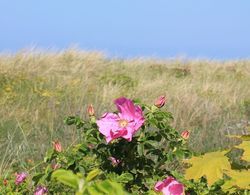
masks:
POLYGON ((154 189, 156 192, 162 192, 163 195, 184 195, 184 185, 176 181, 173 177, 158 181, 154 189))

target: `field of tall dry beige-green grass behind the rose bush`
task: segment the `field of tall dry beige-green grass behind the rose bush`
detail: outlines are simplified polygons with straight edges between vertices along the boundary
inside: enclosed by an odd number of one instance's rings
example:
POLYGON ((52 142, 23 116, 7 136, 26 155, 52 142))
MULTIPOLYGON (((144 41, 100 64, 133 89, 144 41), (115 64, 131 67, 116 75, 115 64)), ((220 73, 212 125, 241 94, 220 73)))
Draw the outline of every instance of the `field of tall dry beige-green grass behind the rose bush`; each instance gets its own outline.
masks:
POLYGON ((166 95, 173 125, 191 130, 194 151, 226 148, 225 135, 249 130, 249 86, 247 60, 123 60, 74 49, 1 54, 0 175, 41 159, 52 140, 77 142, 64 117, 87 117, 90 103, 98 117, 120 96, 153 103, 166 95))

